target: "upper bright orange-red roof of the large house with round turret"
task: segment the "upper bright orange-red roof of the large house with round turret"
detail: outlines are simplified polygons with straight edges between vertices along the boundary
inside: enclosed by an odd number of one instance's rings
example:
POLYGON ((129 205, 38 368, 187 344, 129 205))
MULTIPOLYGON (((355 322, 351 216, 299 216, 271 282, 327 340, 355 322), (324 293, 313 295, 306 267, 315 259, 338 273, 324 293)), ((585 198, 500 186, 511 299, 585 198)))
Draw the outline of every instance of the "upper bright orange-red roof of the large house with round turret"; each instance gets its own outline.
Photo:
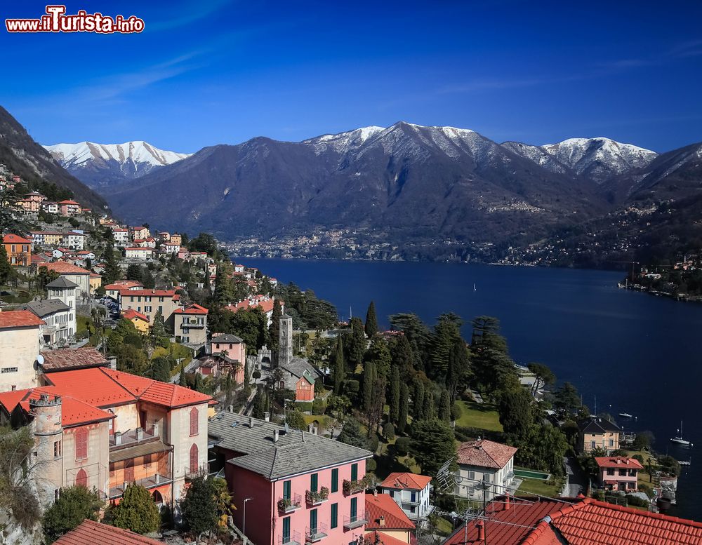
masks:
POLYGON ((54 372, 46 379, 71 396, 97 407, 111 407, 137 400, 168 408, 207 403, 211 396, 171 384, 100 367, 54 372))

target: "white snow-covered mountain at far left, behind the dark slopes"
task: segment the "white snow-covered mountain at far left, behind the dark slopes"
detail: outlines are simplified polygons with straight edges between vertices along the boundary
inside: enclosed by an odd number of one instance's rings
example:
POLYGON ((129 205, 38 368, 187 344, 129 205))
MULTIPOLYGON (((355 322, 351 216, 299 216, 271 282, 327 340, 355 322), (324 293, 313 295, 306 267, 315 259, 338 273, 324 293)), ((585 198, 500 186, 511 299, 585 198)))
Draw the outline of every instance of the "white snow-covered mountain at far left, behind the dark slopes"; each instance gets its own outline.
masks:
POLYGON ((124 144, 55 144, 44 146, 60 165, 88 185, 105 187, 171 165, 190 154, 167 152, 143 140, 124 144))

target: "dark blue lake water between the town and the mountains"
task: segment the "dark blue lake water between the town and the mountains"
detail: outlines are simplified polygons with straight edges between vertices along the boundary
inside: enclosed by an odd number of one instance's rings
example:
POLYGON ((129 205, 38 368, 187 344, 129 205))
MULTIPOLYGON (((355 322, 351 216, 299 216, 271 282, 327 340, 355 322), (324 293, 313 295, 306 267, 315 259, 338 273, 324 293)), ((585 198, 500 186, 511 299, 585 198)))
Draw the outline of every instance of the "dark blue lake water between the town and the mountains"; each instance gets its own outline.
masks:
POLYGON ((467 322, 496 316, 517 363, 539 361, 560 381, 573 382, 590 410, 612 415, 625 430, 648 429, 654 448, 677 459, 691 459, 678 482, 675 516, 702 520, 702 448, 697 418, 702 397, 702 304, 675 302, 620 290, 623 273, 578 269, 498 267, 477 264, 349 262, 248 259, 282 282, 311 288, 336 304, 340 317, 365 318, 370 300, 378 321, 414 312, 434 323, 453 311, 467 322), (475 284, 475 290, 473 285, 475 284), (684 420, 684 436, 698 445, 669 443, 684 420), (699 460, 702 460, 699 459, 699 460))

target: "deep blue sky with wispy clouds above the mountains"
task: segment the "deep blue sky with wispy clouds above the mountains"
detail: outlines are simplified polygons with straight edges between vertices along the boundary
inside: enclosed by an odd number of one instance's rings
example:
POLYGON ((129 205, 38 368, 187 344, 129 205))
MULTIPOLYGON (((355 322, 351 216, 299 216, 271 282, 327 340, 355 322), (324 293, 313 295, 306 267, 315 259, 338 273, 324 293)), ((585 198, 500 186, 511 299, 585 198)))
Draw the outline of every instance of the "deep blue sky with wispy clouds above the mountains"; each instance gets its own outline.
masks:
MULTIPOLYGON (((46 2, 2 7, 34 18, 46 2)), ((395 121, 498 142, 702 140, 698 1, 69 1, 129 35, 0 30, 0 104, 43 144, 177 152, 395 121)))

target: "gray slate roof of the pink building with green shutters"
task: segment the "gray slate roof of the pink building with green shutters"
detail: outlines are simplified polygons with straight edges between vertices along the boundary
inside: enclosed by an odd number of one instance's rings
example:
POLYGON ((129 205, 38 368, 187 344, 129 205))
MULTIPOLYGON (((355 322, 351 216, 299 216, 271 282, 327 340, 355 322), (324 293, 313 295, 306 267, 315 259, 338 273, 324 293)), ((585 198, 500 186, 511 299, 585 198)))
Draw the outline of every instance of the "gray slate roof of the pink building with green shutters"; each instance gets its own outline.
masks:
POLYGON ((370 458, 373 453, 363 448, 345 445, 339 441, 253 419, 234 412, 220 412, 208 424, 211 438, 218 446, 244 456, 227 463, 258 473, 268 480, 315 471, 325 466, 346 464, 370 458), (279 430, 279 439, 273 443, 273 431, 279 430))

